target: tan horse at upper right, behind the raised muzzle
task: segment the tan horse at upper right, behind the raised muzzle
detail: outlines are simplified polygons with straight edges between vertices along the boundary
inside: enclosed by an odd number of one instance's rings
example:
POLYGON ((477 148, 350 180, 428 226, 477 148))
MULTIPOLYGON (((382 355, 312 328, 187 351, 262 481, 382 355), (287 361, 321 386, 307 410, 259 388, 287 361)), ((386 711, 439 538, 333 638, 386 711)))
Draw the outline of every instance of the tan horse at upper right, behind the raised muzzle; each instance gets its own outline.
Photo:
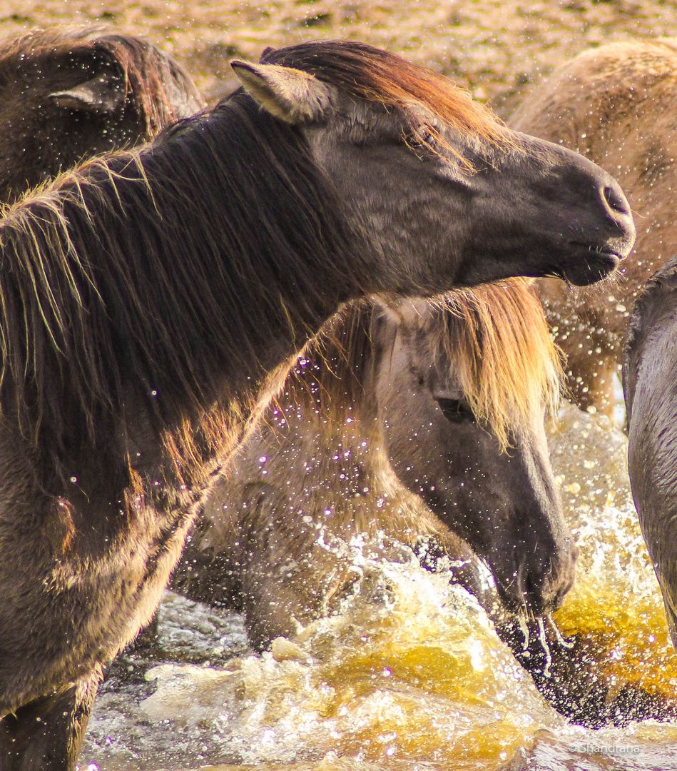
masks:
POLYGON ((611 43, 556 69, 508 121, 612 170, 639 217, 635 250, 619 281, 575 291, 540 282, 548 321, 568 356, 571 396, 581 409, 608 416, 630 309, 649 276, 672 257, 677 238, 675 89, 675 40, 611 43))

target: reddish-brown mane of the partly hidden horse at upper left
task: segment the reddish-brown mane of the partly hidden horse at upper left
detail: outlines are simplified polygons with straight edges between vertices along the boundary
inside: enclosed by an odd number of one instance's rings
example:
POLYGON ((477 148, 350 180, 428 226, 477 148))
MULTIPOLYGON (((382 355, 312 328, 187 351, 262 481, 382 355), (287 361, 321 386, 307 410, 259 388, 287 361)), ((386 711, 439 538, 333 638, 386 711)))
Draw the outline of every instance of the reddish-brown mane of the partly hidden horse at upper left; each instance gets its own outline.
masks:
POLYGON ((34 29, 0 42, 0 82, 7 81, 26 58, 43 53, 99 54, 119 70, 125 93, 131 95, 136 114, 146 123, 146 141, 163 126, 183 115, 176 112, 176 95, 183 94, 186 113, 204 106, 203 97, 186 72, 149 42, 98 26, 65 26, 34 29))

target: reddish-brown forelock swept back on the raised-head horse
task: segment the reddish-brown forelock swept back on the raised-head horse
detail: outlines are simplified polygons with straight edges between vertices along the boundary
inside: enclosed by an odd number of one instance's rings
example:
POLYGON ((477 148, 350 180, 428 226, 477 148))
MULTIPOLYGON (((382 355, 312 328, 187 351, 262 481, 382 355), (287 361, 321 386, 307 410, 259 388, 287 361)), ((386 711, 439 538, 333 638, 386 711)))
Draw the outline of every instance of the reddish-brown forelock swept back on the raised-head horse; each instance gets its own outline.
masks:
POLYGON ((301 43, 270 50, 262 62, 303 69, 361 99, 402 109, 411 116, 414 128, 421 123, 417 109, 423 107, 461 133, 511 146, 503 124, 461 86, 431 69, 366 43, 301 43))

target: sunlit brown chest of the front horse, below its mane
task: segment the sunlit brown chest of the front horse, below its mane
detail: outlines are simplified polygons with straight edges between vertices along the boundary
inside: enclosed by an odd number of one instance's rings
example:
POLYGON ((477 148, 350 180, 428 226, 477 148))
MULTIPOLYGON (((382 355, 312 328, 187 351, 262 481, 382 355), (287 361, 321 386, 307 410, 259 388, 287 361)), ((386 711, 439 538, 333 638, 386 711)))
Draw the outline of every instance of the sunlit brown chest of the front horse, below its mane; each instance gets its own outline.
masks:
POLYGON ((99 505, 85 490, 35 494, 0 511, 0 711, 96 674, 152 618, 193 507, 186 490, 143 487, 99 505))

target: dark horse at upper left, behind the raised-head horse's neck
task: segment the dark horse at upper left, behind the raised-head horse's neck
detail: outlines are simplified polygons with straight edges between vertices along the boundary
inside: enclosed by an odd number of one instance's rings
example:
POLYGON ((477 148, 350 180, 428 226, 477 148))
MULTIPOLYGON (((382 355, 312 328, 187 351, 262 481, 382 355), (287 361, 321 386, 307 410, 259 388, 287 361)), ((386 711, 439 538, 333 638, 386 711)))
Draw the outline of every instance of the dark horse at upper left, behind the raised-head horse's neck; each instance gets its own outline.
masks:
POLYGON ((198 112, 188 73, 149 42, 91 27, 0 41, 0 200, 198 112))

